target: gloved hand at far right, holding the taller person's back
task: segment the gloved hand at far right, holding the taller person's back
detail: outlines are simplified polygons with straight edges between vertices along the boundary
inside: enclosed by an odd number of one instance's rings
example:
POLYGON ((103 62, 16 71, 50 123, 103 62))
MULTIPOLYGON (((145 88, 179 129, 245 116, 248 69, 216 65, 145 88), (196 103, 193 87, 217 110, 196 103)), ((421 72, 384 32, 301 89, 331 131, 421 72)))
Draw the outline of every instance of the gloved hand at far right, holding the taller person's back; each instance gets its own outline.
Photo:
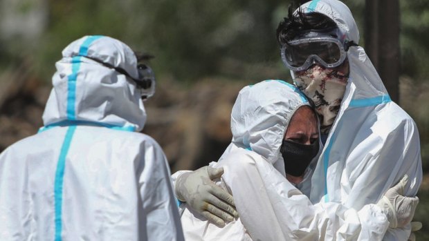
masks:
POLYGON ((419 197, 403 196, 407 182, 408 175, 404 175, 401 181, 387 190, 377 203, 387 216, 387 220, 390 222, 389 227, 392 229, 401 228, 411 222, 417 204, 419 204, 419 197))

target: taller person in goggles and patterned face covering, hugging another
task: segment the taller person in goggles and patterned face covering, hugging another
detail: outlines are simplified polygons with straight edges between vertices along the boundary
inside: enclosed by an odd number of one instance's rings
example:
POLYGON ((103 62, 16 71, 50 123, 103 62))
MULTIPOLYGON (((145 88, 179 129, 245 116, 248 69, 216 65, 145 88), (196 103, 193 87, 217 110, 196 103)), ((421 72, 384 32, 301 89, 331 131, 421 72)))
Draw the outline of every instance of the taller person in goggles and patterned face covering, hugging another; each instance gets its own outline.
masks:
MULTIPOLYGON (((383 193, 408 175, 401 191, 414 197, 422 177, 417 127, 412 118, 390 100, 365 50, 357 46, 358 28, 347 6, 336 0, 304 3, 280 23, 277 39, 282 60, 291 68, 294 84, 316 104, 321 120, 322 151, 311 184, 304 185, 304 181, 298 186, 302 193, 309 195, 312 204, 338 203, 347 209, 361 210, 365 204, 384 206, 387 199, 394 200, 382 198, 383 193), (318 24, 320 16, 324 21, 333 21, 335 28, 330 23, 318 24)), ((228 220, 225 217, 231 218, 233 213, 219 203, 233 208, 234 202, 232 197, 228 197, 229 202, 223 202, 219 189, 212 191, 215 187, 208 181, 215 172, 221 173, 210 170, 203 175, 195 171, 190 175, 203 176, 200 180, 204 182, 188 183, 186 188, 176 185, 176 195, 195 211, 215 215, 213 222, 221 224, 219 218, 228 220), (199 186, 200 192, 188 193, 196 190, 195 186, 199 186), (209 191, 201 193, 204 190, 201 186, 209 191), (204 209, 209 205, 215 206, 215 211, 204 209)), ((181 173, 176 177, 180 179, 181 173)), ((414 212, 416 204, 417 199, 405 210, 414 212)), ((307 204, 302 202, 302 205, 307 204)), ((387 212, 391 222, 383 240, 407 240, 409 220, 398 220, 391 214, 387 212)), ((334 239, 334 236, 327 238, 334 239)))

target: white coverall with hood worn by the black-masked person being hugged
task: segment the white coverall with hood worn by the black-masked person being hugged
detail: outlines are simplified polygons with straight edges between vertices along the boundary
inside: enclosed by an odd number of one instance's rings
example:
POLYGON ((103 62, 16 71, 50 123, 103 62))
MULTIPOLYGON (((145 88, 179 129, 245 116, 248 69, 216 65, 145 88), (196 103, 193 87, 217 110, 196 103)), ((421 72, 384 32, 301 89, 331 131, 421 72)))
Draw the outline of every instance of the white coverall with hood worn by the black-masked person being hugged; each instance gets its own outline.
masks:
MULTIPOLYGON (((286 180, 280 146, 293 113, 305 105, 309 103, 300 90, 284 81, 263 81, 240 91, 231 114, 232 143, 219 162, 210 164, 223 166, 219 184, 234 196, 239 218, 218 227, 185 208, 181 221, 186 240, 383 238, 389 222, 375 204, 360 210, 336 202, 313 205, 286 180)), ((309 191, 305 184, 317 159, 300 188, 309 191)))

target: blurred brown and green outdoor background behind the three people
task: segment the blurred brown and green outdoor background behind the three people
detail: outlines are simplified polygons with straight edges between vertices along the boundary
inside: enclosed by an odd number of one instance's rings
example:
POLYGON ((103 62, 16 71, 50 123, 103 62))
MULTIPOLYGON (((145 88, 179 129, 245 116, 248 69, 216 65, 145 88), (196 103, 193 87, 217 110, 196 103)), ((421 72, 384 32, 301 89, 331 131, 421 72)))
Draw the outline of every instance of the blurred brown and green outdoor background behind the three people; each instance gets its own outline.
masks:
MULTIPOLYGON (((301 1, 303 2, 303 1, 301 1)), ((417 122, 429 168, 429 0, 347 0, 389 93, 417 122)), ((228 146, 238 91, 291 82, 275 40, 291 1, 0 0, 0 152, 42 124, 55 61, 71 41, 108 35, 155 56, 144 133, 172 172, 216 161, 228 146)), ((295 6, 299 2, 295 1, 295 6)), ((429 240, 429 178, 419 191, 417 240, 429 240)))

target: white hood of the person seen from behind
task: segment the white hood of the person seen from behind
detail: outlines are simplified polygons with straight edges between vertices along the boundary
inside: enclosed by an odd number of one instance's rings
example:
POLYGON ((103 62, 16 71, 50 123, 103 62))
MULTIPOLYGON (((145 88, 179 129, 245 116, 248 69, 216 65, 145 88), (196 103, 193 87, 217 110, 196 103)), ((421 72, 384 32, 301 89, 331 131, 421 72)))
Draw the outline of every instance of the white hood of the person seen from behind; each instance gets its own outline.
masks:
POLYGON ((140 131, 146 112, 134 81, 90 58, 138 77, 136 56, 121 41, 104 36, 73 41, 55 64, 57 71, 43 115, 44 125, 82 122, 140 131))

